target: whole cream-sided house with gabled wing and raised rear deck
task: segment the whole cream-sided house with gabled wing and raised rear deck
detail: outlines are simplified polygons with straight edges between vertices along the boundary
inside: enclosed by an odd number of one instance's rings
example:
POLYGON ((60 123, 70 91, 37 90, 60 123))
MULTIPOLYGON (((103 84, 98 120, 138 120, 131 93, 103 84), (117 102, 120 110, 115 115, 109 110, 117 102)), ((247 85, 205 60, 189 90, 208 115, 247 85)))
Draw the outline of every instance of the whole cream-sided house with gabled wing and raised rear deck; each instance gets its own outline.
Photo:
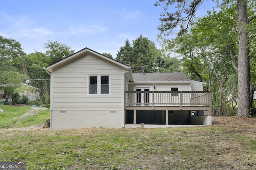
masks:
POLYGON ((137 73, 85 48, 46 68, 51 129, 211 125, 211 92, 184 73, 137 73))

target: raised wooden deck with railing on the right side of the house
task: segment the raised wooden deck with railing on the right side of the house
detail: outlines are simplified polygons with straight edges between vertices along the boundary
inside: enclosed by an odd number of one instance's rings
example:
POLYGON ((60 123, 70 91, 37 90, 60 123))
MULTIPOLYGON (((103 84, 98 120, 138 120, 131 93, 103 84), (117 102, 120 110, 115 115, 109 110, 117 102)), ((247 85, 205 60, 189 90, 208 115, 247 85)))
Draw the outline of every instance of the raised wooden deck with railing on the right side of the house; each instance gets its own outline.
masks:
POLYGON ((126 91, 126 110, 207 110, 212 108, 210 91, 126 91))

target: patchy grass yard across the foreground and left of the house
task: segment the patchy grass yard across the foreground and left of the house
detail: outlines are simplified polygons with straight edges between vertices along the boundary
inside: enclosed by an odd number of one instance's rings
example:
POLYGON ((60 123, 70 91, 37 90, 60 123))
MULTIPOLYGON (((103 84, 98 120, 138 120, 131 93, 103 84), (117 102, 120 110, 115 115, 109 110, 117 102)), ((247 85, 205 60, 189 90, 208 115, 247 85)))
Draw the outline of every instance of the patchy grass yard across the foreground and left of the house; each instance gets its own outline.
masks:
MULTIPOLYGON (((20 118, 20 124, 43 125, 49 116, 46 109, 20 118)), ((4 119, 3 124, 12 120, 4 119)), ((256 119, 213 117, 212 122, 208 127, 163 129, 2 128, 0 161, 25 161, 28 170, 256 169, 256 119)))

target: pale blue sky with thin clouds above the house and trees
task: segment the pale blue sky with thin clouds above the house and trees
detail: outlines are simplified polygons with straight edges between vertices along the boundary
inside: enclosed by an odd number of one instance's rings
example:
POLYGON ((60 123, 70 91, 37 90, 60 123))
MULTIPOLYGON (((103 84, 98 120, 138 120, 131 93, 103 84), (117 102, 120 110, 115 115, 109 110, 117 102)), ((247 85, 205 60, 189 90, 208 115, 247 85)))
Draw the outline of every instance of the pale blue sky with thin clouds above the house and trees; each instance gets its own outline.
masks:
MULTIPOLYGON (((21 43, 26 54, 45 52, 58 41, 79 51, 88 47, 116 57, 126 39, 156 41, 162 6, 156 0, 2 0, 0 35, 21 43)), ((203 4, 198 15, 207 12, 203 4)))

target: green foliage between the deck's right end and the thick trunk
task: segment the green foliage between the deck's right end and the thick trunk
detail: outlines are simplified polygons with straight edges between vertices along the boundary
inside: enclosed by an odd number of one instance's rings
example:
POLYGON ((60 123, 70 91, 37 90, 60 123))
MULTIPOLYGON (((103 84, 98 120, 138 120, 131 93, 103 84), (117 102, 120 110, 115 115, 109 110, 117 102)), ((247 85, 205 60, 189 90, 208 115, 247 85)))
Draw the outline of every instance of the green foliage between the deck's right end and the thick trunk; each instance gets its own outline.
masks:
POLYGON ((208 82, 204 90, 213 93, 213 113, 234 115, 238 104, 238 75, 231 63, 238 59, 236 8, 223 4, 219 12, 193 23, 190 31, 175 39, 162 39, 165 51, 182 57, 183 71, 192 78, 208 82))

